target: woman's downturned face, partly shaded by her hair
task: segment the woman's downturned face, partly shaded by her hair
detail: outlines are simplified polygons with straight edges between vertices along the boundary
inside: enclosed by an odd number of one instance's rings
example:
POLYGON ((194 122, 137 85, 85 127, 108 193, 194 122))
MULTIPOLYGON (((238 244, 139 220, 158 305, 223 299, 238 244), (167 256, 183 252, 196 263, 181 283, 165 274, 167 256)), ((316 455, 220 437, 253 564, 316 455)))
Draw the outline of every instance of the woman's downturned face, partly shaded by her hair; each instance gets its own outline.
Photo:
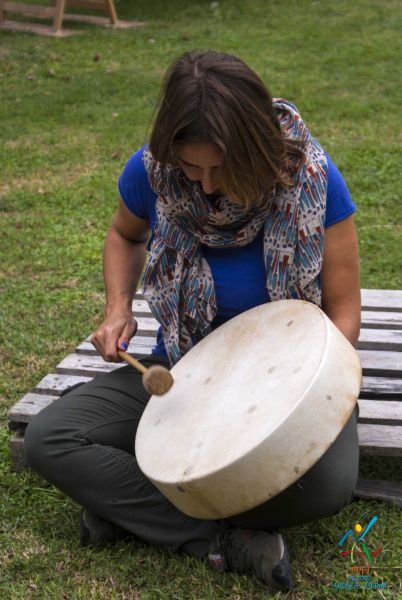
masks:
POLYGON ((212 142, 177 144, 176 156, 186 177, 199 181, 206 194, 219 191, 219 171, 223 163, 219 146, 212 142))

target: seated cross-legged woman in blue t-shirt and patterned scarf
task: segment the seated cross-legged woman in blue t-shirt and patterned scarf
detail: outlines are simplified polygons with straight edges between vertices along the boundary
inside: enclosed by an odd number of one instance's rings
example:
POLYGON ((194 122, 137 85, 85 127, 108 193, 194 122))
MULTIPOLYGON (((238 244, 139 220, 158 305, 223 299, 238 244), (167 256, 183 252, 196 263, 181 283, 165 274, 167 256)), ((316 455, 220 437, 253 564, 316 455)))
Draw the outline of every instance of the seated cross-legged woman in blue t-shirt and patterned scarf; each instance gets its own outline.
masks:
MULTIPOLYGON (((104 248, 106 316, 91 338, 105 360, 119 361, 117 349, 136 332, 133 292, 150 237, 144 294, 162 326, 146 366, 173 365, 225 320, 282 298, 321 305, 356 343, 355 206, 297 109, 272 101, 239 59, 190 52, 172 65, 150 143, 128 161, 119 190, 104 248)), ((284 492, 231 519, 202 521, 180 513, 138 468, 133 437, 148 399, 125 366, 70 391, 27 429, 32 466, 84 507, 81 542, 131 533, 289 589, 278 529, 331 515, 351 500, 356 414, 284 492)))

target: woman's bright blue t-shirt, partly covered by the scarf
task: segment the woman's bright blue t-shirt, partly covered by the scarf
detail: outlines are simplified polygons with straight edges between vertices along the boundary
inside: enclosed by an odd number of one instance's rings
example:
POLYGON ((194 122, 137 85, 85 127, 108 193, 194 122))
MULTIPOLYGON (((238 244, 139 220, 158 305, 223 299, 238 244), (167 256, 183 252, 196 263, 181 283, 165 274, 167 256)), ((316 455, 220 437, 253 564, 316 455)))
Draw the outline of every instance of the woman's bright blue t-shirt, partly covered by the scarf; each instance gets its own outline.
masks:
MULTIPOLYGON (((128 210, 140 219, 147 220, 153 230, 157 195, 151 189, 142 161, 145 148, 140 148, 128 160, 119 179, 119 192, 128 210)), ((325 227, 329 227, 353 214, 356 206, 342 175, 329 156, 326 157, 328 185, 325 227)), ((250 308, 269 302, 262 229, 247 246, 210 248, 202 244, 201 249, 215 284, 217 315, 212 323, 213 328, 250 308)), ((166 355, 160 329, 153 353, 166 355)))

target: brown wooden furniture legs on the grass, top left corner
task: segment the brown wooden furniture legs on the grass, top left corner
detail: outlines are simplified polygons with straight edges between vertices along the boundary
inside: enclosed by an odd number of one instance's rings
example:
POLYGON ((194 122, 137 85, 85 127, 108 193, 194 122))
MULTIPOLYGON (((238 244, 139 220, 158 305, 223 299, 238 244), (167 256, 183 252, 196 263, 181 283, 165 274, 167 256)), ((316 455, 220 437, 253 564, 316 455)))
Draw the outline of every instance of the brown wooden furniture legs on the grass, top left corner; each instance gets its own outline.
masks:
POLYGON ((42 4, 26 4, 0 0, 0 27, 13 31, 38 33, 40 35, 64 37, 80 33, 77 30, 63 29, 63 21, 76 21, 92 25, 108 25, 114 28, 138 27, 144 25, 139 21, 121 21, 117 17, 114 0, 49 0, 49 6, 42 4), (108 16, 100 17, 87 14, 66 14, 66 7, 103 11, 108 16), (26 23, 6 19, 8 13, 25 15, 39 19, 51 19, 52 25, 26 23))

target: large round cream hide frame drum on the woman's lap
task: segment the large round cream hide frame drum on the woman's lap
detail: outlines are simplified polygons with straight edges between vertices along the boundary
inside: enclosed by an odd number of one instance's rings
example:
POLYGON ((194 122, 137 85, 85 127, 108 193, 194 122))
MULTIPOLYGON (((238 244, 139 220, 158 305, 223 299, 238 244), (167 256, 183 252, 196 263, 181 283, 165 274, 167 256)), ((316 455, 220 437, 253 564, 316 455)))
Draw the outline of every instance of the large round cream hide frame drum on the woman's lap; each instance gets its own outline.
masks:
POLYGON ((358 354, 320 308, 280 300, 230 319, 172 368, 135 451, 183 513, 239 514, 285 490, 334 442, 355 407, 358 354))

